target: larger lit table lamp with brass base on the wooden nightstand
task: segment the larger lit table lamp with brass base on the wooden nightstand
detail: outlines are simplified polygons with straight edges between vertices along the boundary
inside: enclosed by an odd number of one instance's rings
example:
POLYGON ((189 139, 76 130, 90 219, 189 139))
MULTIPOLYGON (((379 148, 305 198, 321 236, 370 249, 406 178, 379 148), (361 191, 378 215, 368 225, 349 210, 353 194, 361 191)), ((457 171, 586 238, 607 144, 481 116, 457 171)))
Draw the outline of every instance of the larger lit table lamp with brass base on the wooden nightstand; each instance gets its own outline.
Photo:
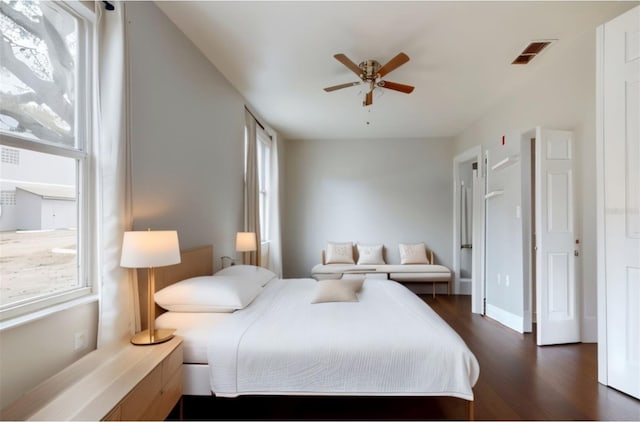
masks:
POLYGON ((125 232, 122 239, 122 256, 120 266, 125 268, 147 268, 147 330, 137 333, 131 343, 137 345, 157 344, 173 337, 175 330, 155 329, 155 274, 156 267, 164 267, 180 263, 180 246, 178 232, 166 231, 131 231, 125 232))

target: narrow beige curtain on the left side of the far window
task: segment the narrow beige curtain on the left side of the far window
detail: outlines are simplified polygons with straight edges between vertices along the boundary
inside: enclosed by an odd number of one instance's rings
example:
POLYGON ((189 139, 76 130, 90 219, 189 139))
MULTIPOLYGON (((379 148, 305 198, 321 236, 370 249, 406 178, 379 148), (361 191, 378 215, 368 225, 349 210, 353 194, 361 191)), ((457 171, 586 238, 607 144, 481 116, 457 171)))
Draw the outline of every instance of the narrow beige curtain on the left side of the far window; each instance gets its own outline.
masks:
POLYGON ((256 234, 255 252, 247 253, 245 264, 260 266, 260 186, 258 183, 258 154, 256 119, 245 109, 245 126, 247 137, 245 145, 245 174, 244 174, 244 230, 256 234))

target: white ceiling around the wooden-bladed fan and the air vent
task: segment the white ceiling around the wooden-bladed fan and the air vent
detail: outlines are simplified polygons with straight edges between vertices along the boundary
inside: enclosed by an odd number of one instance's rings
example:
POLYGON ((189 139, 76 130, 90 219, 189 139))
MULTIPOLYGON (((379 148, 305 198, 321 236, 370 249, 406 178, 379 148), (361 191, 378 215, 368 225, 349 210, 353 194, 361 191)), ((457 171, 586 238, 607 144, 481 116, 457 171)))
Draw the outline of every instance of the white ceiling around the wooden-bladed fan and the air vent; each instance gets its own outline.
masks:
MULTIPOLYGON (((638 2, 158 1, 262 118, 287 139, 449 137, 552 65, 572 41, 638 2), (527 66, 532 40, 557 39, 527 66), (411 94, 361 86, 333 58, 411 60, 384 79, 411 94)), ((593 54, 590 52, 589 54, 593 54)))

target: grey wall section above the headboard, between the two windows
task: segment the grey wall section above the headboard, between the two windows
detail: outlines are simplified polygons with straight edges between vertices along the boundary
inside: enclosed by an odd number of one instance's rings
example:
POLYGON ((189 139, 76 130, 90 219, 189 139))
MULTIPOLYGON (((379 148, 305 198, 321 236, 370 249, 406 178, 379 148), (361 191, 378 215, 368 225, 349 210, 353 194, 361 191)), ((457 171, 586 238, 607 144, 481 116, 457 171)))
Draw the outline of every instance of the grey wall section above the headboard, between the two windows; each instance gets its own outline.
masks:
POLYGON ((244 100, 150 2, 127 3, 135 229, 235 256, 243 224, 244 100))

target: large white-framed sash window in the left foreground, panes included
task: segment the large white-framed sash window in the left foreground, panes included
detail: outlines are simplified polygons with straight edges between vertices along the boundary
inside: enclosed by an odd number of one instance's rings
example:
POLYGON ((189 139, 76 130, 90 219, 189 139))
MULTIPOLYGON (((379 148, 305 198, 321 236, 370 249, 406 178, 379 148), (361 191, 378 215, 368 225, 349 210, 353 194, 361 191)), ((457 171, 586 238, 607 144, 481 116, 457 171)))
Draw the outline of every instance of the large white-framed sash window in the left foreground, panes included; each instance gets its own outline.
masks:
POLYGON ((90 293, 92 12, 0 0, 0 319, 90 293), (9 206, 10 205, 10 206, 9 206))

